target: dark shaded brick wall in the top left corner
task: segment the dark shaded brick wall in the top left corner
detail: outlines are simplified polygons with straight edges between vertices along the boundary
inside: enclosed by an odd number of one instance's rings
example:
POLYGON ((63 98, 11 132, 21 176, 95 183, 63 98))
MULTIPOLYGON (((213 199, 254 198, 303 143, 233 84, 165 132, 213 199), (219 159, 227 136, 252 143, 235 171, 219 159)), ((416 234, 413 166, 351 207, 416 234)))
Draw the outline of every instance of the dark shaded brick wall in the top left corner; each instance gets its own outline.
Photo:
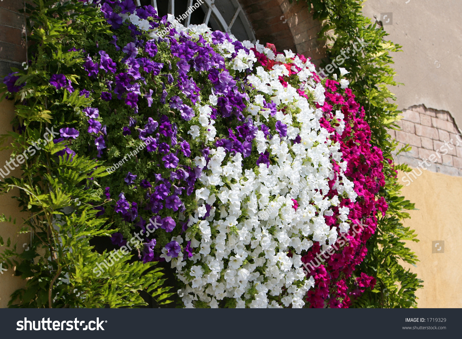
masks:
POLYGON ((24 15, 18 12, 23 7, 20 0, 0 2, 0 78, 26 61, 24 15))

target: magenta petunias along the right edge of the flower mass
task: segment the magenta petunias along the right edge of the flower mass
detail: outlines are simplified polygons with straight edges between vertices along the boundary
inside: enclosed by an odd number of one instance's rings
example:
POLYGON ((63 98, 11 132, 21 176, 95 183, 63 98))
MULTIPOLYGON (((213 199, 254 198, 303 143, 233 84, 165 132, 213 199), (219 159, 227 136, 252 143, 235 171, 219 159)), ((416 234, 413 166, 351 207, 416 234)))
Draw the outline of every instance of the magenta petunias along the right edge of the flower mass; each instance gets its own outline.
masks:
MULTIPOLYGON (((346 232, 346 245, 342 246, 341 242, 345 243, 343 240, 336 242, 334 245, 341 247, 340 250, 330 255, 323 264, 321 261, 324 259, 319 260, 322 258, 319 254, 327 250, 325 246, 316 244, 303 257, 305 263, 315 263, 315 267, 309 267, 307 272, 316 282, 315 288, 308 292, 307 301, 310 307, 318 308, 325 307, 326 304, 329 307, 346 308, 351 297, 358 297, 366 287, 374 287, 375 278, 364 273, 360 277, 354 277, 354 270, 367 254, 366 241, 376 230, 378 212, 384 213, 387 210, 384 198, 376 198, 385 185, 382 151, 371 145, 371 130, 365 122, 365 111, 355 102, 352 91, 348 88, 342 91, 339 87, 345 88, 341 80, 340 83, 334 80, 325 82, 326 101, 322 107, 324 116, 321 124, 334 132, 332 139, 340 143, 342 159, 347 163, 345 175, 354 183, 353 189, 358 195, 356 201, 341 199, 338 207, 348 208, 348 218, 361 220, 365 227, 359 231, 346 229, 343 224, 330 217, 330 227, 346 232), (344 126, 338 122, 339 118, 344 121, 344 126), (332 121, 335 125, 332 125, 332 121), (342 132, 337 129, 340 124, 342 132)), ((338 191, 332 186, 328 195, 338 195, 338 191)))

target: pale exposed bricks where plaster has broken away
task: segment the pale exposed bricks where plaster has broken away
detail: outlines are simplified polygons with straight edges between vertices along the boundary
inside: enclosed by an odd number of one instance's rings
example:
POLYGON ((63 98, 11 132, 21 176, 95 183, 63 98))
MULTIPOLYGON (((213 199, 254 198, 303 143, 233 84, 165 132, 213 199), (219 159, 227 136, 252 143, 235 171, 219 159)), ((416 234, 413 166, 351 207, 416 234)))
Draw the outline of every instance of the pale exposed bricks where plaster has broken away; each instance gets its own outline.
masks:
MULTIPOLYGON (((395 162, 417 168, 422 159, 428 159, 434 154, 437 156, 436 163, 425 165, 428 170, 462 176, 462 143, 456 138, 460 132, 450 113, 417 105, 404 110, 403 115, 404 118, 399 122, 401 131, 390 131, 390 134, 400 142, 400 147, 409 144, 412 150, 396 156, 395 162), (445 142, 448 146, 439 151, 445 142), (443 155, 445 150, 449 152, 443 155)), ((459 139, 462 140, 461 136, 459 139)))

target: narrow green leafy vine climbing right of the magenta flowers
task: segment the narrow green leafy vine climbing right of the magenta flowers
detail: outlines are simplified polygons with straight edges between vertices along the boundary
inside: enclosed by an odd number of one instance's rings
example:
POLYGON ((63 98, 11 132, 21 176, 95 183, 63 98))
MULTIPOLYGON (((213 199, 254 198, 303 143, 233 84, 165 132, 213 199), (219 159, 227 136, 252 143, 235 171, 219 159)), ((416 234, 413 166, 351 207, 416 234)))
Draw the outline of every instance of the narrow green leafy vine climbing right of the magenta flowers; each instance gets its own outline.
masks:
MULTIPOLYGON (((366 120, 371 126, 372 143, 382 149, 384 158, 389 160, 384 162, 386 185, 380 192, 389 209, 379 219, 374 236, 368 240, 368 254, 358 271, 375 277, 377 285, 374 290, 366 291, 353 301, 353 307, 416 307, 415 291, 423 287, 422 280, 404 269, 402 262, 415 265, 419 261, 405 243, 418 240, 414 230, 404 227, 401 222, 409 218, 406 210, 414 209, 414 204, 400 196, 402 186, 396 176, 396 169, 410 169, 406 165, 393 165, 392 152, 396 151, 398 143, 391 140, 388 133, 388 129, 398 129, 396 122, 401 119, 397 105, 390 103, 390 100, 396 98, 389 91, 389 86, 397 85, 393 79, 395 71, 390 66, 393 63, 390 52, 400 51, 401 46, 386 41, 385 36, 388 34, 382 27, 372 24, 362 14, 363 1, 305 1, 313 6, 314 17, 323 22, 319 37, 329 42, 328 61, 321 67, 334 61, 350 72, 345 76, 350 81, 348 87, 356 95, 356 101, 365 108, 366 120), (353 53, 353 43, 356 42, 358 47, 359 40, 364 40, 365 46, 360 52, 353 53), (342 52, 348 59, 337 58, 342 52)), ((338 68, 334 72, 340 74, 338 68)), ((400 151, 406 150, 407 146, 400 151)))

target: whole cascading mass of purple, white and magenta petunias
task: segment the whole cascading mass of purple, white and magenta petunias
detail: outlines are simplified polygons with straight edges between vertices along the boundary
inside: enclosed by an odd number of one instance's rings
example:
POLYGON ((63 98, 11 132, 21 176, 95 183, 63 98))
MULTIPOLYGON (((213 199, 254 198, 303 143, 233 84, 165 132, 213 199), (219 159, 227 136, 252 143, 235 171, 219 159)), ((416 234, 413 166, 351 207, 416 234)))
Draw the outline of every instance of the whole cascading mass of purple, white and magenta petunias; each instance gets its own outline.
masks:
MULTIPOLYGON (((114 199, 98 207, 119 229, 113 243, 170 262, 186 307, 347 305, 345 279, 386 208, 375 198, 382 157, 348 82, 133 0, 85 2, 111 35, 72 45, 79 84, 64 73, 49 83, 91 102, 69 113, 77 122, 60 141, 73 150, 63 153, 120 165, 97 183, 114 199), (360 218, 370 228, 340 248, 340 263, 307 275, 302 263, 360 218)), ((15 78, 6 81, 17 90, 15 78)))

